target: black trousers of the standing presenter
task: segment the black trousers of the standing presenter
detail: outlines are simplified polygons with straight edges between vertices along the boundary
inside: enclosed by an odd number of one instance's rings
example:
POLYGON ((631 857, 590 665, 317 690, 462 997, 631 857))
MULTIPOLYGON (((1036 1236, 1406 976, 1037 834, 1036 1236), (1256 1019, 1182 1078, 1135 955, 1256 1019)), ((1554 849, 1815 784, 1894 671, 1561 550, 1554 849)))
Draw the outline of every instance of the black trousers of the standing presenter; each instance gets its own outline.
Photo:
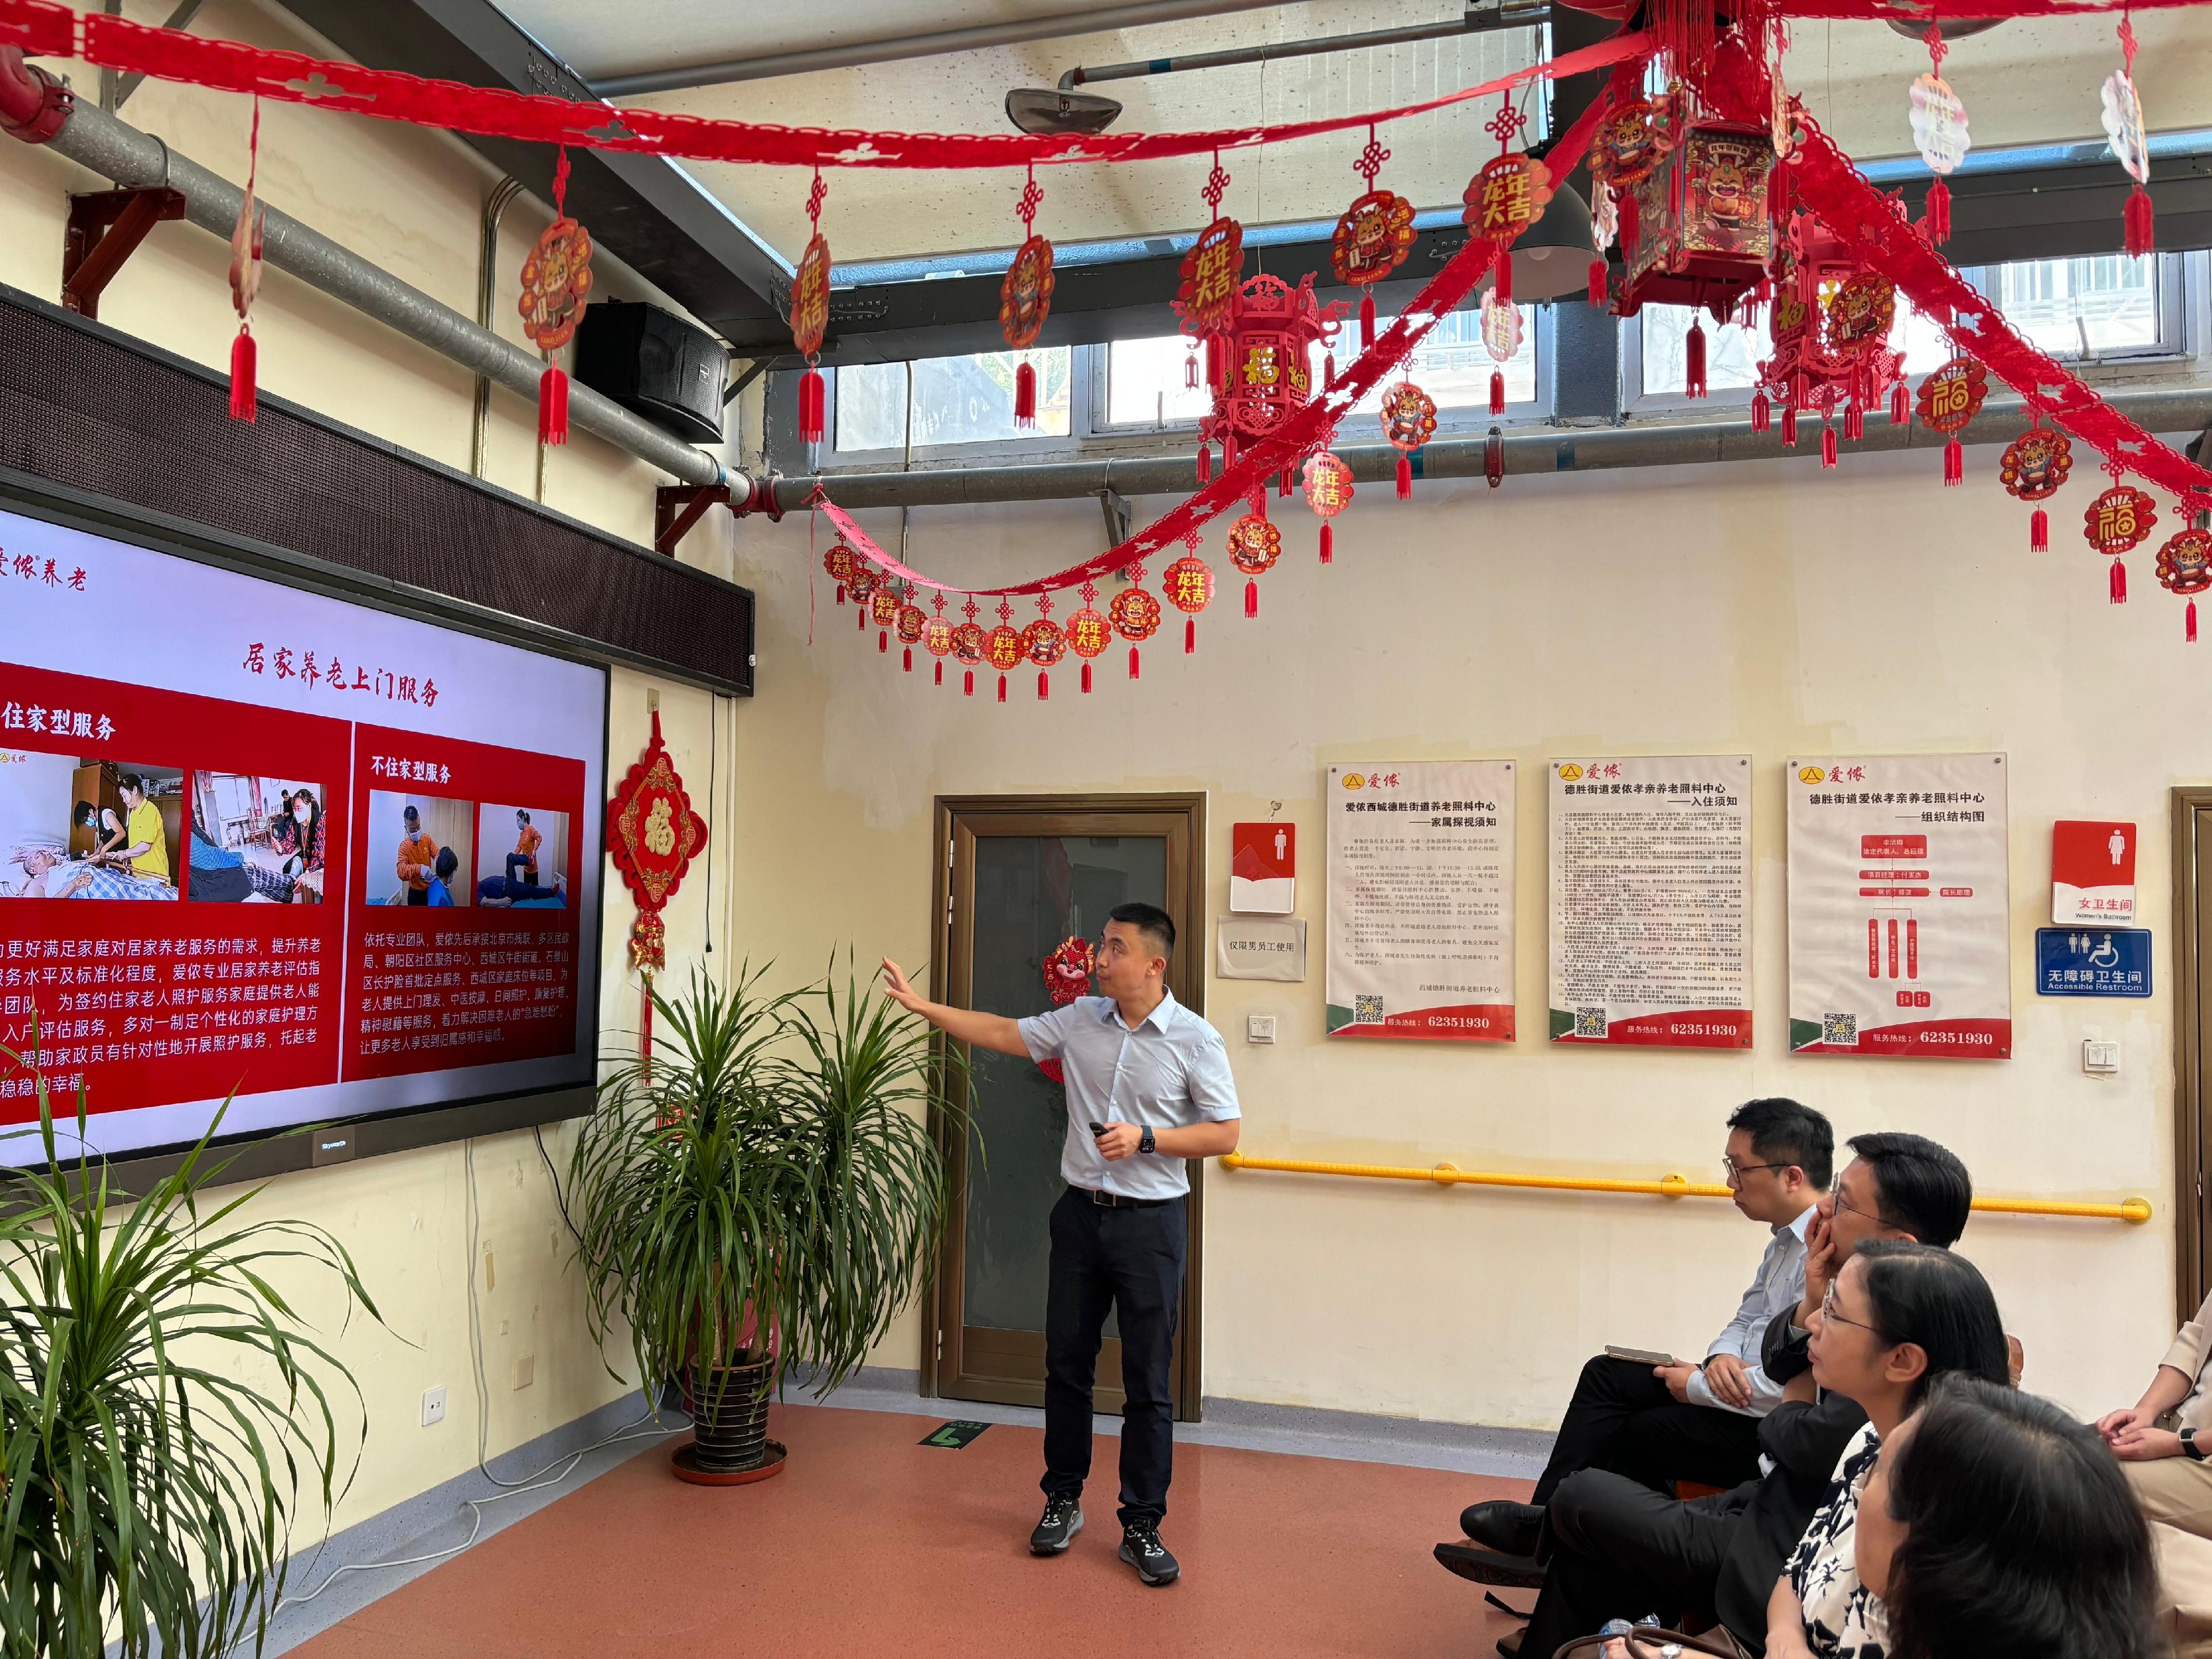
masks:
POLYGON ((1121 1318, 1121 1524, 1159 1522, 1175 1473, 1175 1316, 1183 1298, 1183 1201, 1108 1210, 1068 1188, 1053 1206, 1044 1298, 1044 1493, 1091 1478, 1091 1385, 1106 1310, 1121 1318))

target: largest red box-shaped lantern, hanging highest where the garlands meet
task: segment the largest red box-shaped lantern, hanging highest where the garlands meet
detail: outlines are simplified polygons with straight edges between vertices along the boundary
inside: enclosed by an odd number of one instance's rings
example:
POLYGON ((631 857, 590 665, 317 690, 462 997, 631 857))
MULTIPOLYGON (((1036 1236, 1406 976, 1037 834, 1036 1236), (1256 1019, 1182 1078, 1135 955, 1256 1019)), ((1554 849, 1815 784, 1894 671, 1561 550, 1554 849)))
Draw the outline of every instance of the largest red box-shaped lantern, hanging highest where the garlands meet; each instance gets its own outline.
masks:
POLYGON ((1694 122, 1621 197, 1628 274, 1615 310, 1703 305, 1714 323, 1756 288, 1774 259, 1765 126, 1694 122))

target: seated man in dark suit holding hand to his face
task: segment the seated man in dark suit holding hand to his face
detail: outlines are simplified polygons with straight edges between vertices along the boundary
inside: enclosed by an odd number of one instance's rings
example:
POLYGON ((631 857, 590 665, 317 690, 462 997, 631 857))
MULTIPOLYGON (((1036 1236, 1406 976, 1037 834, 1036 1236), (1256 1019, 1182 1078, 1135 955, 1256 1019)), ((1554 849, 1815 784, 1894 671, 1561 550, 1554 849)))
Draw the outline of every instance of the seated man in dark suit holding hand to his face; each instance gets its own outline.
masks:
MULTIPOLYGON (((1606 1619, 1646 1613, 1668 1624, 1710 1613, 1750 1652, 1763 1648, 1783 1562, 1827 1500, 1845 1447, 1867 1425, 1849 1396, 1814 1402, 1807 1323, 1863 1243, 1909 1239, 1949 1250, 1973 1208, 1966 1166, 1922 1135, 1858 1135, 1851 1152, 1805 1230, 1805 1294, 1767 1327, 1763 1369, 1785 1387, 1783 1402, 1759 1425, 1767 1473, 1686 1504, 1606 1469, 1559 1482, 1535 1548, 1544 1590, 1528 1628, 1498 1644, 1502 1655, 1551 1655, 1595 1635, 1606 1619), (1666 1606, 1650 1606, 1655 1595, 1666 1606)), ((2017 1347, 2011 1365, 2017 1383, 2017 1347)))

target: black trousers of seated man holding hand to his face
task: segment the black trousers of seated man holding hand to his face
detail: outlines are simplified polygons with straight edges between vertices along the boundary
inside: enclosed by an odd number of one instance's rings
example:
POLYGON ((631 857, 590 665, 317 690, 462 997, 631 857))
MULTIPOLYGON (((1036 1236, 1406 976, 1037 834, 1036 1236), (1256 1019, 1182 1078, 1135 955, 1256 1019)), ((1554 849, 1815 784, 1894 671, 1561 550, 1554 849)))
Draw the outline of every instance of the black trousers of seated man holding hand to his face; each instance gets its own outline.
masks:
MULTIPOLYGON (((1721 1413, 1714 1413, 1721 1416, 1721 1413)), ((1657 1613, 1677 1626, 1683 1613, 1712 1613, 1721 1564, 1736 1540, 1750 1486, 1688 1504, 1606 1469, 1559 1482, 1544 1509, 1548 1557, 1522 1652, 1551 1655, 1606 1619, 1657 1613)), ((1736 1632, 1765 1637, 1765 1630, 1736 1632)))

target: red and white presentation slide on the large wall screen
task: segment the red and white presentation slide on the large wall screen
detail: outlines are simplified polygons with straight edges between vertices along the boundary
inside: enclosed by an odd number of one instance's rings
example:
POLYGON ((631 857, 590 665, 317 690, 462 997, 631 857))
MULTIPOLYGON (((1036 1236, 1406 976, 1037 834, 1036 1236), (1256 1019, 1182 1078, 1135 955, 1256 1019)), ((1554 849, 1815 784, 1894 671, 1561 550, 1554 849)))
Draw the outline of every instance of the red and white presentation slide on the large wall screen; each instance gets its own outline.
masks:
POLYGON ((0 511, 0 1044, 111 1155, 591 1082, 604 757, 604 668, 0 511))

